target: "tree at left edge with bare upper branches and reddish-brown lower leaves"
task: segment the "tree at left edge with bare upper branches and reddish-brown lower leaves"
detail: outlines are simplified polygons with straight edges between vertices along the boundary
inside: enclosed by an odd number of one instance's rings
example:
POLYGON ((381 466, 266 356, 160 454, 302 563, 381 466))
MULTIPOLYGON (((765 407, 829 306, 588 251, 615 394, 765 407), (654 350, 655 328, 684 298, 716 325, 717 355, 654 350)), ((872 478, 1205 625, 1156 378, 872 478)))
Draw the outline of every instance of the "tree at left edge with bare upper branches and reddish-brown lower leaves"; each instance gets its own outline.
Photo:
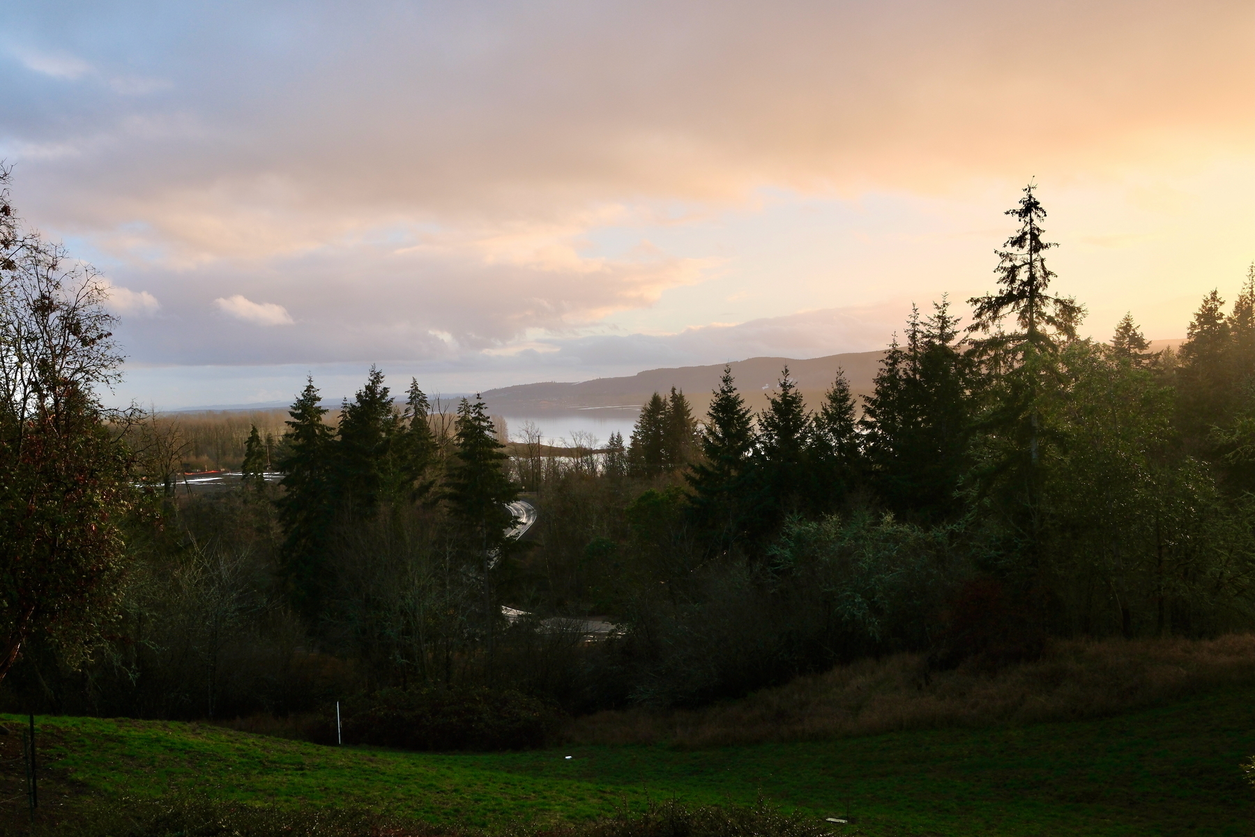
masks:
POLYGON ((78 664, 108 632, 136 502, 137 417, 95 393, 122 364, 108 284, 21 228, 8 179, 0 167, 0 679, 36 634, 78 664))

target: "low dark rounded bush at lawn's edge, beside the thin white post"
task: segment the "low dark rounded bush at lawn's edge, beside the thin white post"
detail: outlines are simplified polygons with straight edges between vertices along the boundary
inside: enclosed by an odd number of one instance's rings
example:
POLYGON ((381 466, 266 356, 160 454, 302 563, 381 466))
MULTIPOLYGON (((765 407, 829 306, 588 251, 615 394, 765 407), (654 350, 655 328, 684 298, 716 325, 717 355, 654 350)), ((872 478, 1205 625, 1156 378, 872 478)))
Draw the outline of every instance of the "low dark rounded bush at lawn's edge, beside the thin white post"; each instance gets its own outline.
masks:
MULTIPOLYGON (((555 710, 510 689, 384 689, 341 706, 345 744, 409 750, 510 750, 541 747, 555 710)), ((319 743, 335 743, 335 718, 319 743)))

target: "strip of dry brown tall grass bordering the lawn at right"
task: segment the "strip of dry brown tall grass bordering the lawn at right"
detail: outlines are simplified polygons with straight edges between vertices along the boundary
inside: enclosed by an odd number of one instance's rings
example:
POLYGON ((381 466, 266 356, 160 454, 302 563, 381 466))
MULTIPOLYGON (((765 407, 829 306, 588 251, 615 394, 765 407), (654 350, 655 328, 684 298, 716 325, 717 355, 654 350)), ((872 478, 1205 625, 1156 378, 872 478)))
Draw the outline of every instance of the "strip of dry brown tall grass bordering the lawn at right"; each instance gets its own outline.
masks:
POLYGON ((1255 684, 1255 635, 1216 640, 1064 640, 996 671, 929 671, 899 654, 803 676, 692 712, 602 712, 570 722, 577 744, 725 744, 988 727, 1117 714, 1216 686, 1255 684))

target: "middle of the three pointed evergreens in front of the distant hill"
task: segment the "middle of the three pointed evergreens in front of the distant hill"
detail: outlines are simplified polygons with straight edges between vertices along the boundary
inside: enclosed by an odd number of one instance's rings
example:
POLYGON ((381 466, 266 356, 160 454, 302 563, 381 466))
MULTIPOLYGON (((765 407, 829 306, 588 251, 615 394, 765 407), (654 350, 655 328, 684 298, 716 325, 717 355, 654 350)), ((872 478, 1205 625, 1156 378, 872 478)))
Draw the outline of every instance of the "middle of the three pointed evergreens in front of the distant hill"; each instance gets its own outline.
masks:
POLYGON ((767 394, 768 407, 758 417, 758 473, 767 517, 779 521, 802 511, 811 496, 811 414, 788 366, 778 389, 767 394))

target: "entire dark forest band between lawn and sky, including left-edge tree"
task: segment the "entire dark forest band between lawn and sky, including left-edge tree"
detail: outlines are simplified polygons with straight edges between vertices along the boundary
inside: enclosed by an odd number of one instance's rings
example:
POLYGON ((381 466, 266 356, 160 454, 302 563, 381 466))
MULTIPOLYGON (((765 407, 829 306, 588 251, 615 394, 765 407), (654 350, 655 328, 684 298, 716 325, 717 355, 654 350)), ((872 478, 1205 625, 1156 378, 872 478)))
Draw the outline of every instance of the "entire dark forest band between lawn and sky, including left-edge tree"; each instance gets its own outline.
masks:
POLYGON ((1178 350, 1131 315, 1084 338, 1033 187, 990 292, 966 319, 944 295, 912 309, 870 395, 838 371, 811 410, 784 368, 754 413, 725 373, 705 415, 655 393, 629 439, 579 449, 376 368, 336 412, 312 379, 282 415, 210 429, 109 409, 107 286, 3 203, 9 712, 316 739, 343 701, 361 740, 521 747, 558 715, 897 651, 996 669, 1054 639, 1255 627, 1255 265, 1178 350), (237 489, 176 491, 241 442, 237 489), (512 540, 520 497, 538 521, 512 540), (447 723, 389 727, 413 713, 447 723))

